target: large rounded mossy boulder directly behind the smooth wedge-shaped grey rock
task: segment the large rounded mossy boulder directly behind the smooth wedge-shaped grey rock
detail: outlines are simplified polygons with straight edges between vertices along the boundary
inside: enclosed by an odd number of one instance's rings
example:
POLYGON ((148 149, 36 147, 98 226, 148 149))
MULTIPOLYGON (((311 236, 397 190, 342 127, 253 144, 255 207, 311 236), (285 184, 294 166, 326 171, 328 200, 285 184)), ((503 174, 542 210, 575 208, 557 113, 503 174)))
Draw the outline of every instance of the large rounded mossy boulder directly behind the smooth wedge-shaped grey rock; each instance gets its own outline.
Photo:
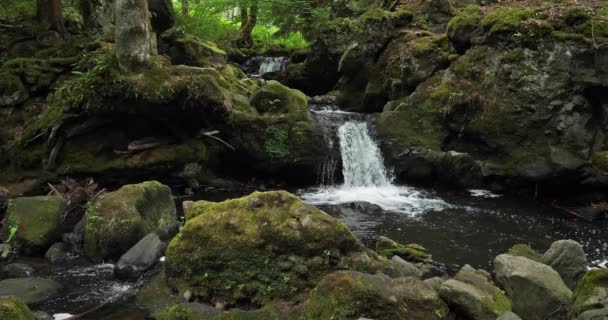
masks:
POLYGON ((175 224, 169 187, 157 181, 126 185, 88 207, 84 252, 93 260, 116 258, 147 234, 166 234, 175 224))

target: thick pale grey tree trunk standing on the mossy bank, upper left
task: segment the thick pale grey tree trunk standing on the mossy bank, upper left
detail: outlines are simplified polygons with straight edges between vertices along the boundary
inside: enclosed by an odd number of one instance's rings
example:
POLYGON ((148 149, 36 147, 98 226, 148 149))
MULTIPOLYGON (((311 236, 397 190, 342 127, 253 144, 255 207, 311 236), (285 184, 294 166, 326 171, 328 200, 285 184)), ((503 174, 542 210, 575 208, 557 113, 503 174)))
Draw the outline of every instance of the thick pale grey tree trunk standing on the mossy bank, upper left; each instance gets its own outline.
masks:
POLYGON ((150 66, 147 0, 116 0, 116 58, 125 72, 142 73, 150 66))

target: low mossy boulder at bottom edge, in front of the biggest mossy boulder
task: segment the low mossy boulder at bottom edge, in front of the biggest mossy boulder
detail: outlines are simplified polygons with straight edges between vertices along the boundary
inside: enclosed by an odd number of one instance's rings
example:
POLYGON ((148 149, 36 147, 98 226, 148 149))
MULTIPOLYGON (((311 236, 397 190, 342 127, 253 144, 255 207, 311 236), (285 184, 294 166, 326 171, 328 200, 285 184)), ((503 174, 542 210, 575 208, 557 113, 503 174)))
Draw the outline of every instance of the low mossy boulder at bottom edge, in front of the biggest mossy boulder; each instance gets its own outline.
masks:
POLYGON ((323 278, 303 310, 305 319, 432 320, 448 314, 439 294, 419 279, 354 271, 323 278))

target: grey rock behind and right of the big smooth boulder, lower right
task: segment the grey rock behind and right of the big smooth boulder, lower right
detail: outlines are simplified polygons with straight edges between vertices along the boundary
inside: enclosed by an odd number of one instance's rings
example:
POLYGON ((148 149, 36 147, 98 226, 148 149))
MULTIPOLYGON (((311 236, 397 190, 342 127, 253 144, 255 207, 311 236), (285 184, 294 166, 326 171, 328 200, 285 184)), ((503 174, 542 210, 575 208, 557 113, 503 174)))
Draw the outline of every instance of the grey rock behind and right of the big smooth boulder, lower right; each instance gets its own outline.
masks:
POLYGON ((543 255, 543 263, 551 266, 564 280, 564 283, 574 290, 581 278, 587 272, 587 256, 583 247, 574 240, 559 240, 543 255))

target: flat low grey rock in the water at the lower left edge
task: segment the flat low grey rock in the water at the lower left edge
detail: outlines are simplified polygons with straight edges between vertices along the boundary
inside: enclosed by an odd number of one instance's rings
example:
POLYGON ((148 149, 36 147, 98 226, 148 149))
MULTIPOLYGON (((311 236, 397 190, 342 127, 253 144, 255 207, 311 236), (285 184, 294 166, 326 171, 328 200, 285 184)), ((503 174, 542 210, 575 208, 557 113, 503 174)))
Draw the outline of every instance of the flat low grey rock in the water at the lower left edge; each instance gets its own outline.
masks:
POLYGON ((61 292, 63 287, 54 280, 17 278, 0 281, 0 296, 15 296, 27 304, 47 300, 61 292))

